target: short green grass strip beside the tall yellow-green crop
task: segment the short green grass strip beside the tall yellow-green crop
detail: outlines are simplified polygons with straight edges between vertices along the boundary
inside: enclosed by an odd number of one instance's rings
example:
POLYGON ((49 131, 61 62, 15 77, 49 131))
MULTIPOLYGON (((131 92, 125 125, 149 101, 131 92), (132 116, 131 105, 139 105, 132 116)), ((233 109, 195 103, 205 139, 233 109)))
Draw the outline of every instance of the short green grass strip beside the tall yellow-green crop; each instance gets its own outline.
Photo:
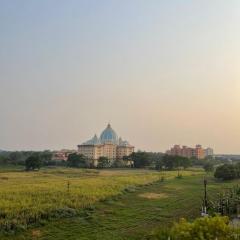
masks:
MULTIPOLYGON (((58 172, 55 174, 63 174, 59 170, 56 171, 58 172)), ((92 176, 93 179, 107 177, 109 182, 130 176, 143 178, 148 174, 150 176, 157 174, 159 179, 159 173, 153 171, 110 170, 95 174, 100 176, 92 176)), ((192 170, 187 175, 185 173, 182 179, 176 179, 176 172, 172 172, 166 173, 168 178, 164 182, 131 184, 124 188, 123 194, 120 192, 98 200, 90 207, 82 209, 75 217, 55 219, 47 222, 45 226, 32 227, 26 232, 2 236, 1 239, 146 239, 152 231, 166 228, 181 217, 194 219, 199 216, 203 194, 203 173, 192 170)), ((216 182, 211 176, 208 178, 208 192, 211 197, 237 182, 221 183, 216 182)))

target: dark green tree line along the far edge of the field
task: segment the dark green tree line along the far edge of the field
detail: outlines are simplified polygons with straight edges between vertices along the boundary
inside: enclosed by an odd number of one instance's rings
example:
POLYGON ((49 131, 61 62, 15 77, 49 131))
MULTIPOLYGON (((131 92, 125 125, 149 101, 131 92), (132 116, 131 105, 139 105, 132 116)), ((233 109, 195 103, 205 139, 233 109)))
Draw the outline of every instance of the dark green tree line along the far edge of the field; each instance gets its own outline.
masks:
POLYGON ((51 151, 17 151, 0 152, 0 164, 14 164, 26 166, 27 170, 39 169, 42 166, 68 166, 77 168, 149 168, 156 170, 174 170, 188 168, 192 165, 203 166, 206 171, 213 170, 214 160, 208 159, 188 159, 180 156, 165 155, 160 152, 133 152, 130 156, 123 159, 110 160, 100 157, 97 166, 93 165, 92 160, 84 155, 73 153, 68 156, 67 161, 52 160, 51 151))

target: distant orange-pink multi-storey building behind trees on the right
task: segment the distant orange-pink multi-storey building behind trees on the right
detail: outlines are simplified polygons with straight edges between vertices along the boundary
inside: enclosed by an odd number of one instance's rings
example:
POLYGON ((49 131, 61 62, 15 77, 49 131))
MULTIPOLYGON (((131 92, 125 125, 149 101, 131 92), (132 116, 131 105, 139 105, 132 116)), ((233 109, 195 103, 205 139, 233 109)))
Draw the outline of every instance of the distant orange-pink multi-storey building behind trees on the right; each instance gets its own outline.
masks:
POLYGON ((204 159, 206 156, 213 155, 213 149, 211 148, 203 149, 201 145, 196 145, 195 148, 174 145, 170 150, 166 151, 166 154, 172 156, 182 156, 187 158, 204 159))

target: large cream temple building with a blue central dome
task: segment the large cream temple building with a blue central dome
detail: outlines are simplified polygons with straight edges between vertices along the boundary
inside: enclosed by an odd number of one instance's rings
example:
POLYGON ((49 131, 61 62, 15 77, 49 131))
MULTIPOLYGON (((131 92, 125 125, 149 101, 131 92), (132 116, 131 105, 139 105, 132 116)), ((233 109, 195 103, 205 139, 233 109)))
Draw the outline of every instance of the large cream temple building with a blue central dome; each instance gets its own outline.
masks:
POLYGON ((90 140, 78 145, 78 152, 92 159, 94 165, 100 157, 107 157, 109 160, 121 160, 124 156, 129 156, 134 152, 134 146, 128 141, 118 138, 116 132, 108 124, 101 133, 100 138, 95 134, 90 140))

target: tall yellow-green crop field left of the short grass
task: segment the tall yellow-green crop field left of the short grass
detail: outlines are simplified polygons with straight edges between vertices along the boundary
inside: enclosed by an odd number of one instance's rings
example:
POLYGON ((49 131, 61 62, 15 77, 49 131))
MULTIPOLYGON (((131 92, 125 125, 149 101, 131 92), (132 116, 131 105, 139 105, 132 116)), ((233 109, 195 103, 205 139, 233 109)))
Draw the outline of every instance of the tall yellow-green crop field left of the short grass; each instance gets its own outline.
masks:
MULTIPOLYGON (((175 176, 176 172, 165 173, 165 178, 175 176)), ((53 168, 39 172, 7 172, 4 169, 0 172, 0 227, 11 231, 40 220, 73 216, 96 201, 160 177, 159 172, 144 170, 53 168)))

